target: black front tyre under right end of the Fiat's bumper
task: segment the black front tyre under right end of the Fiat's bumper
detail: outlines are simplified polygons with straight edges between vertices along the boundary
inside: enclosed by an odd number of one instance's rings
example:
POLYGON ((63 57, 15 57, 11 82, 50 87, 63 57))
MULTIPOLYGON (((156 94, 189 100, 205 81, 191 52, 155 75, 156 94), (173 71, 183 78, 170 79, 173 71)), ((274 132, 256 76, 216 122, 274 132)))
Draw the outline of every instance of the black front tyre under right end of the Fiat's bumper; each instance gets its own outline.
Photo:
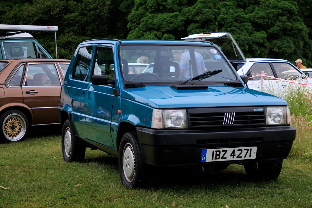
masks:
POLYGON ((268 162, 253 162, 244 164, 245 171, 253 180, 275 180, 282 170, 283 159, 271 160, 268 162))

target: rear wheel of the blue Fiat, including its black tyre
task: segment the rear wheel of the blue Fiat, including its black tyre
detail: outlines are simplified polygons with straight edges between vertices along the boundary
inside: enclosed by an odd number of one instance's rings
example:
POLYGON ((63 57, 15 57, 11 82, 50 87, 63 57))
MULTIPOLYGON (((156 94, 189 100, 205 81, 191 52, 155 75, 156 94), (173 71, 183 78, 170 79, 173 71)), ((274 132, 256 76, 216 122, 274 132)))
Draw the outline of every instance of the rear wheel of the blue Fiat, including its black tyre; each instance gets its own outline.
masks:
POLYGON ((62 152, 66 162, 81 162, 85 158, 85 145, 75 140, 68 120, 62 130, 62 152))

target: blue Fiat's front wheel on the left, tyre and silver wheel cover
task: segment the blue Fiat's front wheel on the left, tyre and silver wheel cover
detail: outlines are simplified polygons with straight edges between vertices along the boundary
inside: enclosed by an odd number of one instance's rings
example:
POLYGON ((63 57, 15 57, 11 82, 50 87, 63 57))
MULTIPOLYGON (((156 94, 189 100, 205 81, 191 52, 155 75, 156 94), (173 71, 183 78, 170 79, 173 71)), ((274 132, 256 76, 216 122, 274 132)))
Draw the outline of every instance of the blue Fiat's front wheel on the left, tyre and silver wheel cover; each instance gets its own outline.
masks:
POLYGON ((144 184, 141 148, 134 132, 125 133, 118 152, 119 174, 126 188, 138 188, 144 184))

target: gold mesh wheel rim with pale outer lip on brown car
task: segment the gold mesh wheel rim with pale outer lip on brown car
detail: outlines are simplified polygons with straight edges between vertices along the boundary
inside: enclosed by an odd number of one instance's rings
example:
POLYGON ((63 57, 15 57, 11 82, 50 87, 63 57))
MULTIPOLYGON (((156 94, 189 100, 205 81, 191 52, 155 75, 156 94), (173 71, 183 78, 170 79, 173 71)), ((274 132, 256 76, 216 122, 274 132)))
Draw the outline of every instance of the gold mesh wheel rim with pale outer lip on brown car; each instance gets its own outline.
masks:
POLYGON ((26 133, 26 128, 26 121, 20 114, 10 114, 2 123, 5 138, 12 142, 22 139, 26 133))

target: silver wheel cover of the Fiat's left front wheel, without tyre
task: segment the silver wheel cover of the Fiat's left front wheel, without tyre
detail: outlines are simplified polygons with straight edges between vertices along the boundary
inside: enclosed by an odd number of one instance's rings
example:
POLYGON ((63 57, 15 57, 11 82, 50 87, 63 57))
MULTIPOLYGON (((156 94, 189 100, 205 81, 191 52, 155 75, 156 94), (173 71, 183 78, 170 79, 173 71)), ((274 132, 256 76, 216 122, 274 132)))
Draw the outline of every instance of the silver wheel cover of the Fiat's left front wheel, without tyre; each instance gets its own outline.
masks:
POLYGON ((122 155, 122 167, 124 169, 124 176, 126 177, 127 181, 133 181, 135 173, 135 158, 133 147, 130 143, 127 143, 124 146, 124 151, 122 155))

